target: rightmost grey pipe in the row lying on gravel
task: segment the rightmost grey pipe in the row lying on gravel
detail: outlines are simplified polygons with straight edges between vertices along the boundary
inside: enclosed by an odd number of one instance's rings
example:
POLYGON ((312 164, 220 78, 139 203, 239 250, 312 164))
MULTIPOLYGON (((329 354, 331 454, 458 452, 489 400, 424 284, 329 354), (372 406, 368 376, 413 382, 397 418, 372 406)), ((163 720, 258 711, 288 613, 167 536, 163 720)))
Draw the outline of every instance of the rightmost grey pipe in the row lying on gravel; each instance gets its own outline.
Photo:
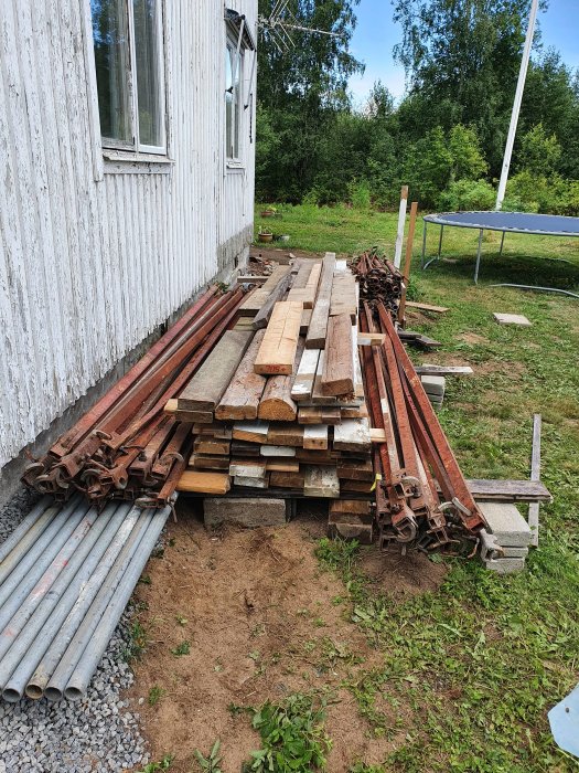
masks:
POLYGON ((88 687, 88 682, 90 681, 90 678, 93 677, 93 674, 95 673, 96 667, 98 666, 100 658, 107 648, 107 644, 115 632, 122 611, 129 602, 135 585, 137 584, 137 581, 139 580, 139 576, 141 575, 141 572, 149 560, 149 555, 151 554, 151 551, 159 539, 159 534, 161 533, 170 512, 170 507, 154 511, 147 532, 140 541, 139 550, 133 552, 129 566, 122 575, 121 581, 118 583, 112 597, 109 600, 107 605, 107 614, 99 617, 99 623, 93 633, 90 644, 83 653, 73 674, 71 675, 64 691, 64 695, 66 698, 68 698, 68 700, 79 700, 88 687))

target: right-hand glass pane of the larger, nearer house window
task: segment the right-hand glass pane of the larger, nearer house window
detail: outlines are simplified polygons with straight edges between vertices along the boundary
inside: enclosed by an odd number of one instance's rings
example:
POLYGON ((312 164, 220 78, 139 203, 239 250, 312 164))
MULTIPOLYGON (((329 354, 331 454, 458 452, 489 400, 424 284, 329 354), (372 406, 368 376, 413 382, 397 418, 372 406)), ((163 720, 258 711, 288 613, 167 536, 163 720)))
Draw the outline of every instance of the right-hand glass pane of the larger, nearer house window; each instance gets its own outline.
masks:
POLYGON ((161 56, 159 39, 160 2, 133 0, 135 56, 137 61, 137 97, 139 106, 139 141, 163 145, 164 110, 161 104, 161 56))

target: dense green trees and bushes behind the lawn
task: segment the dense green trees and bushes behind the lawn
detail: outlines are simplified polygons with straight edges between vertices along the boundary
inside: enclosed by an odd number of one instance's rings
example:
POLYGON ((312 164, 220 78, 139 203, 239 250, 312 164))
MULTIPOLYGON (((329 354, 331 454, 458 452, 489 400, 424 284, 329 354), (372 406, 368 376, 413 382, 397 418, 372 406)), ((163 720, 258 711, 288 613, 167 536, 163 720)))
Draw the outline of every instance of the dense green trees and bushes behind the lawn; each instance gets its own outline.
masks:
MULTIPOLYGON (((304 27, 258 53, 256 192, 260 201, 491 209, 511 118, 530 0, 393 0, 395 56, 407 91, 376 83, 362 108, 347 92, 363 64, 350 52, 360 0, 291 0, 304 27), (279 46, 279 47, 278 47, 279 46)), ((259 0, 267 17, 271 0, 259 0)), ((546 7, 546 0, 543 8, 546 7)), ((579 76, 538 31, 505 209, 579 214, 579 76)))

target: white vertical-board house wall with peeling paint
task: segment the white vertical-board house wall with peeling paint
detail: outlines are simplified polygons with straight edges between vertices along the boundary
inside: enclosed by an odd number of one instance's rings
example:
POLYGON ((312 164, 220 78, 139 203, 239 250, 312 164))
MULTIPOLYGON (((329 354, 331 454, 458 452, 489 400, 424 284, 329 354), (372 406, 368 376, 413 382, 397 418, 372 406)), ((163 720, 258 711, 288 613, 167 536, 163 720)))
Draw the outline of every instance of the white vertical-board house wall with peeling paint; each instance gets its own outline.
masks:
MULTIPOLYGON (((227 4, 255 38, 257 0, 227 4)), ((249 109, 225 163, 219 0, 164 2, 172 162, 151 165, 103 158, 89 0, 1 7, 0 466, 233 264, 254 197, 249 109)))

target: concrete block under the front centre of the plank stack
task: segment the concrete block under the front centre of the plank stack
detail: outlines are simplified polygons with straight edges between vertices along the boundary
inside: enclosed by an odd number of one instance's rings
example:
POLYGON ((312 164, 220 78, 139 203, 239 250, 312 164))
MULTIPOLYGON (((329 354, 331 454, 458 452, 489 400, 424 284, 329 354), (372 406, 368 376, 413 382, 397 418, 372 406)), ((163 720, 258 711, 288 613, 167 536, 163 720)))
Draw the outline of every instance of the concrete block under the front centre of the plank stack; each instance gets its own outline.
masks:
POLYGON ((287 520, 285 499, 219 497, 203 500, 205 528, 238 523, 248 529, 260 526, 283 526, 287 520))

